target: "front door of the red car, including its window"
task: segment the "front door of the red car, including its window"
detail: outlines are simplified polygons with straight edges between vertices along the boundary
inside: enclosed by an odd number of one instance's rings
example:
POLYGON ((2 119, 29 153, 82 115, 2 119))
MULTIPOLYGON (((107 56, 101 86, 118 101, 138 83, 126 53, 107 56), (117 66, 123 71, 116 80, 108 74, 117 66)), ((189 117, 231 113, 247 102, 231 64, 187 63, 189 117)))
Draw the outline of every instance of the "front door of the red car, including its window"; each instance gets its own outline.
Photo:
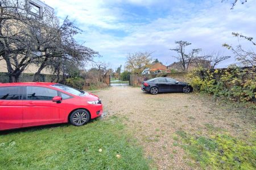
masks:
POLYGON ((53 102, 57 90, 27 86, 23 108, 23 126, 44 125, 64 121, 65 105, 53 102))

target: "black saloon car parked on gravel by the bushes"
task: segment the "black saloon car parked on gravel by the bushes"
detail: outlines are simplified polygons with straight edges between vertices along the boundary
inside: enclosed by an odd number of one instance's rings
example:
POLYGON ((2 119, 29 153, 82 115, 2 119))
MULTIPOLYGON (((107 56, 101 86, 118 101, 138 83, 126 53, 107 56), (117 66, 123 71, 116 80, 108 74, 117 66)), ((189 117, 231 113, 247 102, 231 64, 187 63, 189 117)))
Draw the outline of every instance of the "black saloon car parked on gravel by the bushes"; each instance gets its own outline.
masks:
POLYGON ((178 82, 168 77, 159 77, 143 82, 141 90, 150 92, 152 95, 156 95, 158 92, 184 92, 187 94, 192 92, 193 88, 188 83, 178 82))

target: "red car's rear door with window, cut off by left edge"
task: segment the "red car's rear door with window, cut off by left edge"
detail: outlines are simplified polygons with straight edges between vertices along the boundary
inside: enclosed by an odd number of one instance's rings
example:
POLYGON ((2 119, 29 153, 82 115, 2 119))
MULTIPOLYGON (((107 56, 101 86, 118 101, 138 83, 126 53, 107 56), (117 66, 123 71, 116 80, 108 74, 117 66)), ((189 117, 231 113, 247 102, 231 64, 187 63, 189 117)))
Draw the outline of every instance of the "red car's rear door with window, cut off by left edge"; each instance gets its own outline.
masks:
POLYGON ((22 127, 22 89, 0 87, 0 130, 22 127))

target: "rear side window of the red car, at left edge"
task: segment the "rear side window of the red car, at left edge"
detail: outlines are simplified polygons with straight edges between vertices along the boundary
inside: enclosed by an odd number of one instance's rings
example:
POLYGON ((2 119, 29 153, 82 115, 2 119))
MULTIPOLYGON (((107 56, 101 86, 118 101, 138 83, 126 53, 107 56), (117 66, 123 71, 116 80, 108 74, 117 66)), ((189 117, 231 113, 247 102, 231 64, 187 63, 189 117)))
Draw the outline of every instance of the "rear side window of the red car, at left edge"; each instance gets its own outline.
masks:
POLYGON ((22 93, 20 87, 0 87, 0 100, 20 100, 22 93))

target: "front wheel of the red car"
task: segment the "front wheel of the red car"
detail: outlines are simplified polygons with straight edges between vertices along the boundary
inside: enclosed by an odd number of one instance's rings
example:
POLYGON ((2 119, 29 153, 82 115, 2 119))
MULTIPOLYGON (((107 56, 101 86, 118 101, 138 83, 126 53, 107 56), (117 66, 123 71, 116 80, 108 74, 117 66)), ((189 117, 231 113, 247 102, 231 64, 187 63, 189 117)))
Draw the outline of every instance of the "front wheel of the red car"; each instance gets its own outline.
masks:
POLYGON ((82 126, 88 123, 90 120, 90 113, 85 109, 78 109, 71 113, 69 116, 69 122, 75 126, 82 126))

